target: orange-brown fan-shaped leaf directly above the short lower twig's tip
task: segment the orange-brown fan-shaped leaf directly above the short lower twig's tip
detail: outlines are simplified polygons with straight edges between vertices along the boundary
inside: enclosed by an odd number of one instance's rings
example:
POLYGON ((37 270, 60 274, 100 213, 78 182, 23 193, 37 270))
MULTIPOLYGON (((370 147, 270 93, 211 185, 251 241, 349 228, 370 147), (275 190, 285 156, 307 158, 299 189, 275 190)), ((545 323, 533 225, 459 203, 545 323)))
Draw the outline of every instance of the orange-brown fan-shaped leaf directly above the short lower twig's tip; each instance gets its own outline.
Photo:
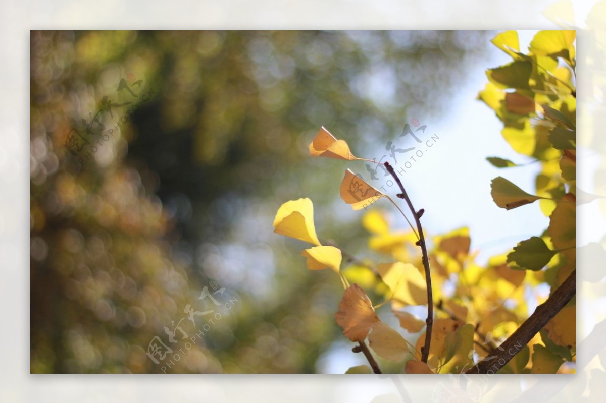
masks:
POLYGON ((356 284, 348 287, 343 293, 335 319, 343 328, 343 334, 354 342, 363 341, 370 328, 380 321, 372 302, 356 284))

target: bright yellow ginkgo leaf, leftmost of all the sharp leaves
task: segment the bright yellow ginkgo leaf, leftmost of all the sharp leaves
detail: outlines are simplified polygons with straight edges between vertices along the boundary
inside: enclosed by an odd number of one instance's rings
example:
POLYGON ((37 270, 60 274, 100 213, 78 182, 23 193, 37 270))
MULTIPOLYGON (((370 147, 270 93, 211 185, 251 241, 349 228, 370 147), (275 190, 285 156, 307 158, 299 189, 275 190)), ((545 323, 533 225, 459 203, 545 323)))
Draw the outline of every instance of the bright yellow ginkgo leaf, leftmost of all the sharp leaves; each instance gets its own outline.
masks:
POLYGON ((273 221, 274 232, 320 246, 313 224, 313 203, 309 198, 283 203, 273 221))

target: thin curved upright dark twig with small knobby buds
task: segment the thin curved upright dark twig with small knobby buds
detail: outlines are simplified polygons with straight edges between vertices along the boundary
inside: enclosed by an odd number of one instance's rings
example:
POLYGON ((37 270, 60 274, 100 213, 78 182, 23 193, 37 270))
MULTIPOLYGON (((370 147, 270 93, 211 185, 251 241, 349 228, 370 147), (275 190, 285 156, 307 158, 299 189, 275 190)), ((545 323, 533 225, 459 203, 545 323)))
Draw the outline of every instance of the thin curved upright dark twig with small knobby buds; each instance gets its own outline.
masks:
POLYGON ((421 360, 427 363, 427 358, 429 357, 429 345, 431 344, 431 329, 433 328, 433 295, 431 293, 431 273, 429 271, 429 256, 427 255, 427 245, 425 244, 425 236, 423 235, 423 229, 421 227, 421 216, 423 215, 425 210, 415 210, 415 207, 413 207, 413 203, 410 201, 410 198, 408 198, 408 194, 404 189, 404 185, 402 185, 402 181, 400 181, 400 178, 398 178, 398 175, 396 175, 396 172, 394 171, 393 167, 391 167, 391 165, 387 161, 385 161, 384 165, 385 168, 387 168, 389 174, 391 174, 391 177, 393 177, 393 179, 396 180, 396 183, 398 183, 398 186, 400 187, 402 193, 396 196, 398 198, 402 198, 408 204, 408 209, 410 209, 410 212, 413 214, 413 217, 415 217, 417 230, 419 232, 419 241, 417 245, 421 247, 421 252, 423 254, 425 282, 427 282, 427 319, 425 320, 425 322, 427 323, 427 330, 425 331, 425 345, 421 348, 421 360))

